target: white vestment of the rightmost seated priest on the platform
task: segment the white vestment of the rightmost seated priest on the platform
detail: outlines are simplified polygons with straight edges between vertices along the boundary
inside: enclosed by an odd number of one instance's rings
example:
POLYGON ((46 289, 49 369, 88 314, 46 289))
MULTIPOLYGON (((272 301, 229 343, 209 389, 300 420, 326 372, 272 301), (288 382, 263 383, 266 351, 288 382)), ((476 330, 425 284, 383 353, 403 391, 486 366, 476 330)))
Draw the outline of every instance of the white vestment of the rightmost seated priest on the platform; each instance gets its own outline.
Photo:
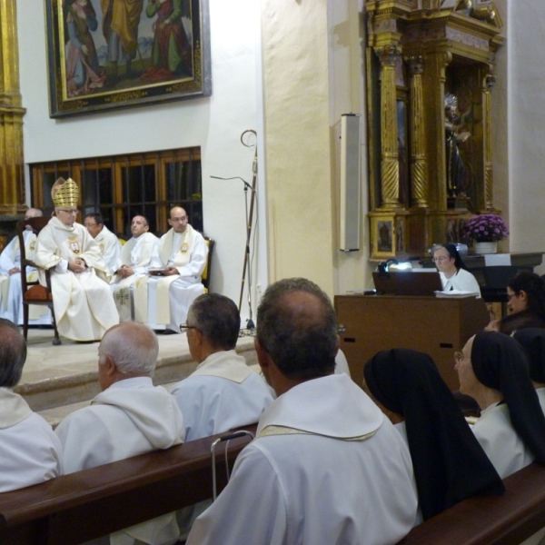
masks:
MULTIPOLYGON (((201 275, 206 265, 208 246, 203 235, 187 225, 183 233, 171 229, 163 234, 151 267, 174 266, 179 274, 147 278, 147 324, 152 329, 180 332, 191 303, 204 292, 201 275)), ((144 284, 144 282, 143 282, 144 284)), ((137 306, 136 300, 134 306, 137 306)), ((135 308, 135 311, 136 308, 135 308)), ((144 313, 144 312, 142 312, 144 313)))

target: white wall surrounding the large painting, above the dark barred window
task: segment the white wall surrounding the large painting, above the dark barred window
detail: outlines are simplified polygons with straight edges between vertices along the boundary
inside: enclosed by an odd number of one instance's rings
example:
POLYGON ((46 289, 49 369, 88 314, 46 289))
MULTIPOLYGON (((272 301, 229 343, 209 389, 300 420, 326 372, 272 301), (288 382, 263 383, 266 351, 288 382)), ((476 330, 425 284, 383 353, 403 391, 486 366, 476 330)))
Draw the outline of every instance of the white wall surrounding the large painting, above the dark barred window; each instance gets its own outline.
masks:
POLYGON ((55 120, 49 118, 45 2, 17 0, 25 163, 201 146, 204 231, 216 240, 212 289, 238 303, 246 240, 243 184, 210 176, 252 181, 253 149, 243 147, 240 136, 257 128, 261 107, 260 9, 255 0, 209 4, 211 97, 55 120))

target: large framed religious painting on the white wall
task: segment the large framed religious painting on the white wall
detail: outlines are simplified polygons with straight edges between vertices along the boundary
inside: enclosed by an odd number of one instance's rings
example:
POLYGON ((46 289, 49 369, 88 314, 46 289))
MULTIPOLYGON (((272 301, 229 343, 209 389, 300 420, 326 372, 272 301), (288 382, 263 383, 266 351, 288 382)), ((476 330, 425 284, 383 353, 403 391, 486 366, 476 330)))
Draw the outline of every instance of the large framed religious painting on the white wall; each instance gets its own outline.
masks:
POLYGON ((212 94, 208 0, 45 0, 51 117, 212 94))

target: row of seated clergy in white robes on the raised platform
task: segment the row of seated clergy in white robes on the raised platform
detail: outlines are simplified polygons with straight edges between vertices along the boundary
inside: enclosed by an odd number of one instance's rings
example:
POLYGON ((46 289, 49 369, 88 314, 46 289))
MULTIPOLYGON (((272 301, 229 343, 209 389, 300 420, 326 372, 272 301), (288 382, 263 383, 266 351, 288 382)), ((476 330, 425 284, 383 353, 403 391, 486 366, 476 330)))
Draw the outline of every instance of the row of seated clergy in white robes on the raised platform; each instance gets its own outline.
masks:
MULTIPOLYGON (((51 277, 58 332, 73 341, 100 341, 119 322, 139 322, 156 332, 179 333, 193 300, 204 292, 202 274, 208 246, 180 206, 170 211, 170 230, 158 239, 144 216, 134 216, 133 238, 123 248, 100 213, 77 223, 79 189, 59 178, 51 191, 54 214, 38 233, 25 232, 29 280, 45 286, 51 277), (34 278, 36 277, 36 279, 34 278)), ((31 208, 25 219, 42 215, 31 208)), ((30 226, 29 226, 30 227, 30 226)), ((23 322, 17 238, 0 254, 0 317, 23 322)), ((30 307, 33 324, 51 324, 46 307, 30 307)))

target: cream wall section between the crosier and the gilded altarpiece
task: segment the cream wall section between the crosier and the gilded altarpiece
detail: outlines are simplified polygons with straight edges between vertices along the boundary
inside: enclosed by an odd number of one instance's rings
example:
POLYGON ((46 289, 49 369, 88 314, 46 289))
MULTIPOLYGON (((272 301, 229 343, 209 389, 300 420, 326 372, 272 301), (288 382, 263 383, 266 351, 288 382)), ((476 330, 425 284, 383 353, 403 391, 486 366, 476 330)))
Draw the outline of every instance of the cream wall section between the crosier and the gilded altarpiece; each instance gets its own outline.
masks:
MULTIPOLYGON (((367 253, 342 254, 338 243, 340 119, 362 113, 364 104, 362 5, 357 0, 263 0, 262 5, 271 281, 306 276, 330 295, 362 287, 367 253)), ((362 248, 368 246, 365 224, 363 215, 362 248)))

